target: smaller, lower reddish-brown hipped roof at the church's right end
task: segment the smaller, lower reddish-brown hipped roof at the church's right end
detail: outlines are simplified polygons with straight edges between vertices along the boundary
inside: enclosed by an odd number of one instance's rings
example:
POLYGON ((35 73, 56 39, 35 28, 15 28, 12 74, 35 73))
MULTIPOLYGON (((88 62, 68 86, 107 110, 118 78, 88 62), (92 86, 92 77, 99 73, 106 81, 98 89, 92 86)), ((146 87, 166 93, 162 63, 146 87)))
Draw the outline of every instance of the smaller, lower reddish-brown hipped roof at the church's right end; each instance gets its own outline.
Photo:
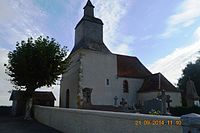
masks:
POLYGON ((172 85, 161 73, 156 73, 145 77, 144 83, 138 92, 152 92, 162 90, 167 92, 179 92, 176 87, 172 85))

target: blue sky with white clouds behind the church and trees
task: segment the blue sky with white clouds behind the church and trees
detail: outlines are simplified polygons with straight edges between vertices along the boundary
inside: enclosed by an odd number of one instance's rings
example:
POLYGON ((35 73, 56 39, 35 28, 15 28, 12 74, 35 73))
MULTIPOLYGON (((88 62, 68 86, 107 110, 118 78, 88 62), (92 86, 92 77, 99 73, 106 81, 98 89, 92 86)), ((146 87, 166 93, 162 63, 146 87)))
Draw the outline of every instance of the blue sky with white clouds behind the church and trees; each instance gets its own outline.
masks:
MULTIPOLYGON (((7 54, 17 41, 50 36, 69 51, 87 0, 0 0, 0 105, 14 89, 5 74, 7 54)), ((200 51, 200 0, 91 0, 104 23, 104 43, 113 52, 136 56, 174 85, 200 51)), ((44 90, 44 88, 42 88, 44 90)), ((59 85, 51 87, 57 99, 59 85), (54 88, 54 89, 52 89, 54 88)), ((58 100, 57 103, 58 104, 58 100)))

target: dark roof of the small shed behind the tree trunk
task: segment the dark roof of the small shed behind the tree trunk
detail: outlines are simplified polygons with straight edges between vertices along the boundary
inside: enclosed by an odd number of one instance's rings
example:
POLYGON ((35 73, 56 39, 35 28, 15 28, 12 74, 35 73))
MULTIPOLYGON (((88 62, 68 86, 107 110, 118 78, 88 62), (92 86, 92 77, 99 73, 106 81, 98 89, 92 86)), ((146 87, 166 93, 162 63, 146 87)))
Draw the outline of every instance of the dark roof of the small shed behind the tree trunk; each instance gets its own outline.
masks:
MULTIPOLYGON (((24 100, 26 92, 13 90, 10 96, 10 100, 24 100)), ((52 92, 48 91, 36 91, 33 95, 33 99, 37 100, 56 100, 52 92)))

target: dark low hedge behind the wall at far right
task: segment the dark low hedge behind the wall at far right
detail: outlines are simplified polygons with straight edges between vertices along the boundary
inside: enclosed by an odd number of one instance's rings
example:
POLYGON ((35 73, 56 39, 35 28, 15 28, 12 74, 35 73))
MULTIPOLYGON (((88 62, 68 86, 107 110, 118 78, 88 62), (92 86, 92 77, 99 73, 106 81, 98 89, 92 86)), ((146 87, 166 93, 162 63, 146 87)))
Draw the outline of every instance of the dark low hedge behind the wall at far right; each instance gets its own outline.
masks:
POLYGON ((190 113, 200 114, 200 107, 171 107, 170 113, 172 116, 182 116, 190 113))

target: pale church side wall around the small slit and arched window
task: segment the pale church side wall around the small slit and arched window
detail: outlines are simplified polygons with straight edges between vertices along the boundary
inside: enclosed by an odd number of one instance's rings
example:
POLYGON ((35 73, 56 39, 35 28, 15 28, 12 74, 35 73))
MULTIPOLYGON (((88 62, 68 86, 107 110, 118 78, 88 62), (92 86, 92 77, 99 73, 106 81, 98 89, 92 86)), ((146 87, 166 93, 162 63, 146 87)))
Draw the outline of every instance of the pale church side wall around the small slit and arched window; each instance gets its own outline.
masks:
POLYGON ((121 98, 128 100, 129 105, 136 103, 136 92, 141 87, 143 79, 117 77, 117 57, 114 54, 101 52, 83 52, 81 61, 83 68, 84 87, 93 88, 91 99, 94 105, 114 105, 114 97, 118 97, 119 105, 121 98), (109 80, 109 85, 107 81, 109 80), (129 93, 123 93, 123 81, 129 84, 129 93))

